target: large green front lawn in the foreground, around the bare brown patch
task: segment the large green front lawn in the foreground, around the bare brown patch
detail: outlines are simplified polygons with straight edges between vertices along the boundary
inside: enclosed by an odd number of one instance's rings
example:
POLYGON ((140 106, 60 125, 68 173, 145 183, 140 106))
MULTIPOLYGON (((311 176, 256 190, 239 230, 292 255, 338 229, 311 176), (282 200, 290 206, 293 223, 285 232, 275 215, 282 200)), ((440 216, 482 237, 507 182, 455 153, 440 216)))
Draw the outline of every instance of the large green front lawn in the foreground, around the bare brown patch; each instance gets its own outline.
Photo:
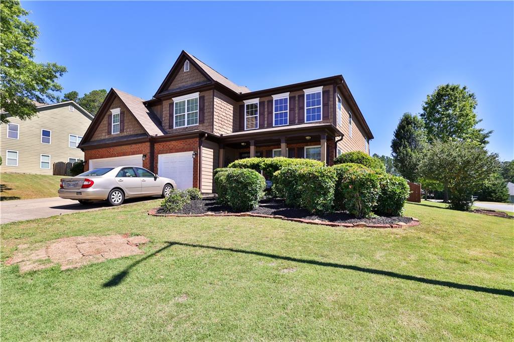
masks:
POLYGON ((2 265, 1 339, 514 339, 511 220, 420 203, 416 227, 335 229, 146 215, 157 203, 3 225, 3 261, 68 236, 151 243, 76 270, 2 265))

